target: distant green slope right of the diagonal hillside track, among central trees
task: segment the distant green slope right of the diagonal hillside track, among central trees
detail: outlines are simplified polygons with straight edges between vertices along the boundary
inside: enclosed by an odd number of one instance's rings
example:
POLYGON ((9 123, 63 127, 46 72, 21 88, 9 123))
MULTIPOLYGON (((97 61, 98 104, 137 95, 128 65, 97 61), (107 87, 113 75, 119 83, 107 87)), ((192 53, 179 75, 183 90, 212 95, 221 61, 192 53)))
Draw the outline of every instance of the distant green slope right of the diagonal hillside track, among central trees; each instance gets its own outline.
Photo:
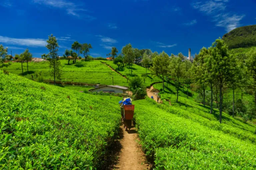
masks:
MULTIPOLYGON (((119 73, 121 73, 122 75, 132 78, 131 77, 131 69, 129 68, 129 66, 125 66, 124 68, 120 68, 118 69, 118 66, 116 64, 113 63, 113 61, 102 61, 105 62, 107 64, 109 64, 113 69, 115 69, 116 71, 118 71, 119 73)), ((142 74, 146 73, 146 68, 133 64, 132 66, 132 74, 140 76, 142 74)), ((150 86, 150 84, 154 83, 154 82, 161 82, 163 81, 161 78, 157 77, 157 76, 153 76, 150 74, 150 70, 147 70, 147 74, 148 77, 145 80, 145 86, 150 86)))

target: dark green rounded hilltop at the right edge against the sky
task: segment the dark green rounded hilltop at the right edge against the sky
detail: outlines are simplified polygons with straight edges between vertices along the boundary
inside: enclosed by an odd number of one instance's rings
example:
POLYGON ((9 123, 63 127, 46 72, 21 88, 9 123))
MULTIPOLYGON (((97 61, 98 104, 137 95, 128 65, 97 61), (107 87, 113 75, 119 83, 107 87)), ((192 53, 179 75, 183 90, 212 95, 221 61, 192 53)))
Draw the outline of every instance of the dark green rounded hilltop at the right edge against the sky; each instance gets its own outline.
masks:
POLYGON ((256 25, 236 28, 225 34, 222 39, 230 49, 256 46, 256 25))

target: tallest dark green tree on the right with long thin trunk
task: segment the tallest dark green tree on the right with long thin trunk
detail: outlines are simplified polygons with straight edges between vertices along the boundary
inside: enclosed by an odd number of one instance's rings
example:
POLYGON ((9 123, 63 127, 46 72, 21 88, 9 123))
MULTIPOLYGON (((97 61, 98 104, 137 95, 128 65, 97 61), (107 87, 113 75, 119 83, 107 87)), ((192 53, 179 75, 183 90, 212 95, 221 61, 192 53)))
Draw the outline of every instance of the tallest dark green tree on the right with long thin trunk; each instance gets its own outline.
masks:
POLYGON ((219 85, 219 110, 220 110, 220 123, 222 119, 222 101, 223 101, 223 87, 226 85, 230 79, 230 65, 231 57, 229 55, 228 46, 223 40, 217 39, 212 44, 211 55, 215 64, 213 66, 213 73, 216 76, 216 82, 219 85))

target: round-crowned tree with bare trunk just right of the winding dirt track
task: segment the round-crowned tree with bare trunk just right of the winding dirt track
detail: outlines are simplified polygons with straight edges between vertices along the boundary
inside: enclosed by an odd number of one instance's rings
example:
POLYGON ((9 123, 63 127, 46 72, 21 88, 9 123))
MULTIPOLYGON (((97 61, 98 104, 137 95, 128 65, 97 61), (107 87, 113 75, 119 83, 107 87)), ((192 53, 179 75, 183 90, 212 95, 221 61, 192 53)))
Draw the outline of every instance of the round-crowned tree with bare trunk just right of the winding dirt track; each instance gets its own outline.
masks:
POLYGON ((153 58, 153 67, 151 70, 157 75, 161 75, 163 79, 163 91, 164 91, 164 76, 168 73, 168 66, 170 63, 170 58, 167 53, 164 51, 161 52, 159 55, 156 55, 153 58))

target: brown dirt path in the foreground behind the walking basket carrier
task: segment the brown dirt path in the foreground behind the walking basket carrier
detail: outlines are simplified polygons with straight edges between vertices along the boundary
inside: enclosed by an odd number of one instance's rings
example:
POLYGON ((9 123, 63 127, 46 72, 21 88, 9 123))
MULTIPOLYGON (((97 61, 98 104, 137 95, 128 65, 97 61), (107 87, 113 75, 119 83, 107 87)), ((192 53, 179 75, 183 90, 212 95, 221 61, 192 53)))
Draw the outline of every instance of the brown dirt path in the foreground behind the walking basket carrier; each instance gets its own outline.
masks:
POLYGON ((151 165, 146 163, 146 157, 137 143, 138 136, 135 128, 131 128, 130 133, 120 126, 120 143, 122 145, 119 154, 118 164, 113 169, 119 170, 145 170, 151 169, 151 165))

